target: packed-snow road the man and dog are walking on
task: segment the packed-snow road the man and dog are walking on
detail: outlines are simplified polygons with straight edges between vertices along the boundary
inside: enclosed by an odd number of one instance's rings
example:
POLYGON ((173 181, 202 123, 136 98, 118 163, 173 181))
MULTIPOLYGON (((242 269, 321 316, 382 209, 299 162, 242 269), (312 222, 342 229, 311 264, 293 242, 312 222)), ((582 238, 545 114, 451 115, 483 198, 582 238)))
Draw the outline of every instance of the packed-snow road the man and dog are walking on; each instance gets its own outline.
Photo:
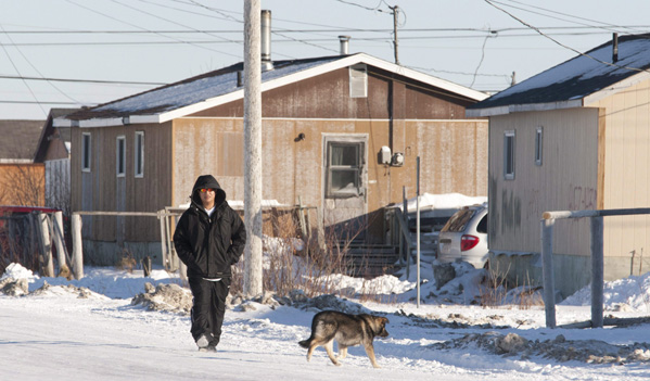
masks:
MULTIPOLYGON (((146 312, 103 296, 0 296, 2 380, 634 380, 647 365, 597 366, 505 359, 480 351, 432 351, 430 343, 467 330, 425 330, 393 317, 392 338, 375 344, 382 369, 351 348, 342 367, 322 348, 311 363, 296 341, 311 313, 227 312, 216 354, 196 352, 188 317, 146 312), (421 334, 421 338, 415 336, 421 334)), ((406 318, 404 318, 406 319, 406 318)), ((579 331, 576 331, 579 333, 579 331)), ((541 333, 544 334, 544 333, 541 333)))

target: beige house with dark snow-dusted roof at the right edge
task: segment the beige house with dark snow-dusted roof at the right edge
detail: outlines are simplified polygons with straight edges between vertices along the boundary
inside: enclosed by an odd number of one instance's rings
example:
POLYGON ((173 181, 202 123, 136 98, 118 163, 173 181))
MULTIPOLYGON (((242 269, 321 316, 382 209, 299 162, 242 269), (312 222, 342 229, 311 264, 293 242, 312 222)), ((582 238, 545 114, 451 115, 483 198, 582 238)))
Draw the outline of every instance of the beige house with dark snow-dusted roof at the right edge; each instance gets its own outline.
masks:
MULTIPOLYGON (((650 205, 650 36, 624 36, 475 105, 489 118, 489 250, 513 282, 541 283, 547 211, 650 205), (614 54, 617 47, 617 56, 614 54)), ((589 220, 556 223, 556 289, 590 281, 589 220)), ((650 270, 650 216, 604 218, 604 278, 650 270)))

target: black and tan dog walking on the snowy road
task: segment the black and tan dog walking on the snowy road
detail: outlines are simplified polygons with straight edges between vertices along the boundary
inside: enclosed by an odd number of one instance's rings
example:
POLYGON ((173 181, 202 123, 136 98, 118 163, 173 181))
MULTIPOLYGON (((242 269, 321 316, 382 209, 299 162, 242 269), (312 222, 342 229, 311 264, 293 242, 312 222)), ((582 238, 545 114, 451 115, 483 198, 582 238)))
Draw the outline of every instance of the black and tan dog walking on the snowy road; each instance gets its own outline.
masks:
POLYGON ((374 359, 374 347, 372 340, 375 336, 386 338, 386 323, 388 319, 381 316, 361 314, 351 315, 335 310, 323 310, 314 316, 311 320, 311 335, 307 340, 298 342, 302 347, 308 348, 307 361, 317 346, 321 345, 328 352, 328 356, 340 366, 339 359, 347 356, 347 347, 362 344, 372 366, 380 368, 374 359), (339 344, 339 356, 334 356, 334 340, 339 344))

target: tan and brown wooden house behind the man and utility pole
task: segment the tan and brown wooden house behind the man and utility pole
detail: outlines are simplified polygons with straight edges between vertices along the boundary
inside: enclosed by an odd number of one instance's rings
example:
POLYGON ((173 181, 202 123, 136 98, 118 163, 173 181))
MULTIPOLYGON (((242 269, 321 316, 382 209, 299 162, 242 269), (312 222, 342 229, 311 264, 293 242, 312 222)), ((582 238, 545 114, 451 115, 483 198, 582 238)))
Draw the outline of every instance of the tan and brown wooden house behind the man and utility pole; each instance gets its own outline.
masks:
MULTIPOLYGON (((244 199, 243 64, 55 120, 72 127, 73 211, 155 212, 187 205, 199 175, 244 199)), ((319 211, 326 226, 364 221, 416 192, 487 193, 487 120, 464 117, 487 96, 367 54, 275 61, 262 74, 264 200, 319 211)), ((362 224, 364 225, 364 224, 362 224)), ((85 253, 160 251, 149 217, 84 217, 85 253)), ((160 256, 158 256, 160 258, 160 256)))

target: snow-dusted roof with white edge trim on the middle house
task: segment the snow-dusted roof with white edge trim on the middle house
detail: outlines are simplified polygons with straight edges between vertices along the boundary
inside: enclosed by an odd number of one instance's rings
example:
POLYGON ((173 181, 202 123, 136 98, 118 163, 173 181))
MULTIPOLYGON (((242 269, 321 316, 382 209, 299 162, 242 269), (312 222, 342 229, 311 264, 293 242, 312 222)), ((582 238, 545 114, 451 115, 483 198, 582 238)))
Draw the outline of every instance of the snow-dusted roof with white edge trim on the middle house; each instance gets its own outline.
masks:
MULTIPOLYGON (((487 98, 487 94, 483 92, 364 53, 275 61, 272 71, 262 73, 262 90, 265 91, 356 63, 368 63, 449 92, 458 93, 469 100, 480 101, 487 98)), ((80 127, 112 126, 123 124, 123 122, 131 124, 163 123, 175 117, 190 115, 243 98, 243 87, 238 87, 238 72, 242 71, 243 63, 240 62, 176 84, 82 110, 56 119, 55 126, 72 126, 72 120, 77 120, 80 127), (128 120, 123 120, 123 118, 128 118, 128 120)))

